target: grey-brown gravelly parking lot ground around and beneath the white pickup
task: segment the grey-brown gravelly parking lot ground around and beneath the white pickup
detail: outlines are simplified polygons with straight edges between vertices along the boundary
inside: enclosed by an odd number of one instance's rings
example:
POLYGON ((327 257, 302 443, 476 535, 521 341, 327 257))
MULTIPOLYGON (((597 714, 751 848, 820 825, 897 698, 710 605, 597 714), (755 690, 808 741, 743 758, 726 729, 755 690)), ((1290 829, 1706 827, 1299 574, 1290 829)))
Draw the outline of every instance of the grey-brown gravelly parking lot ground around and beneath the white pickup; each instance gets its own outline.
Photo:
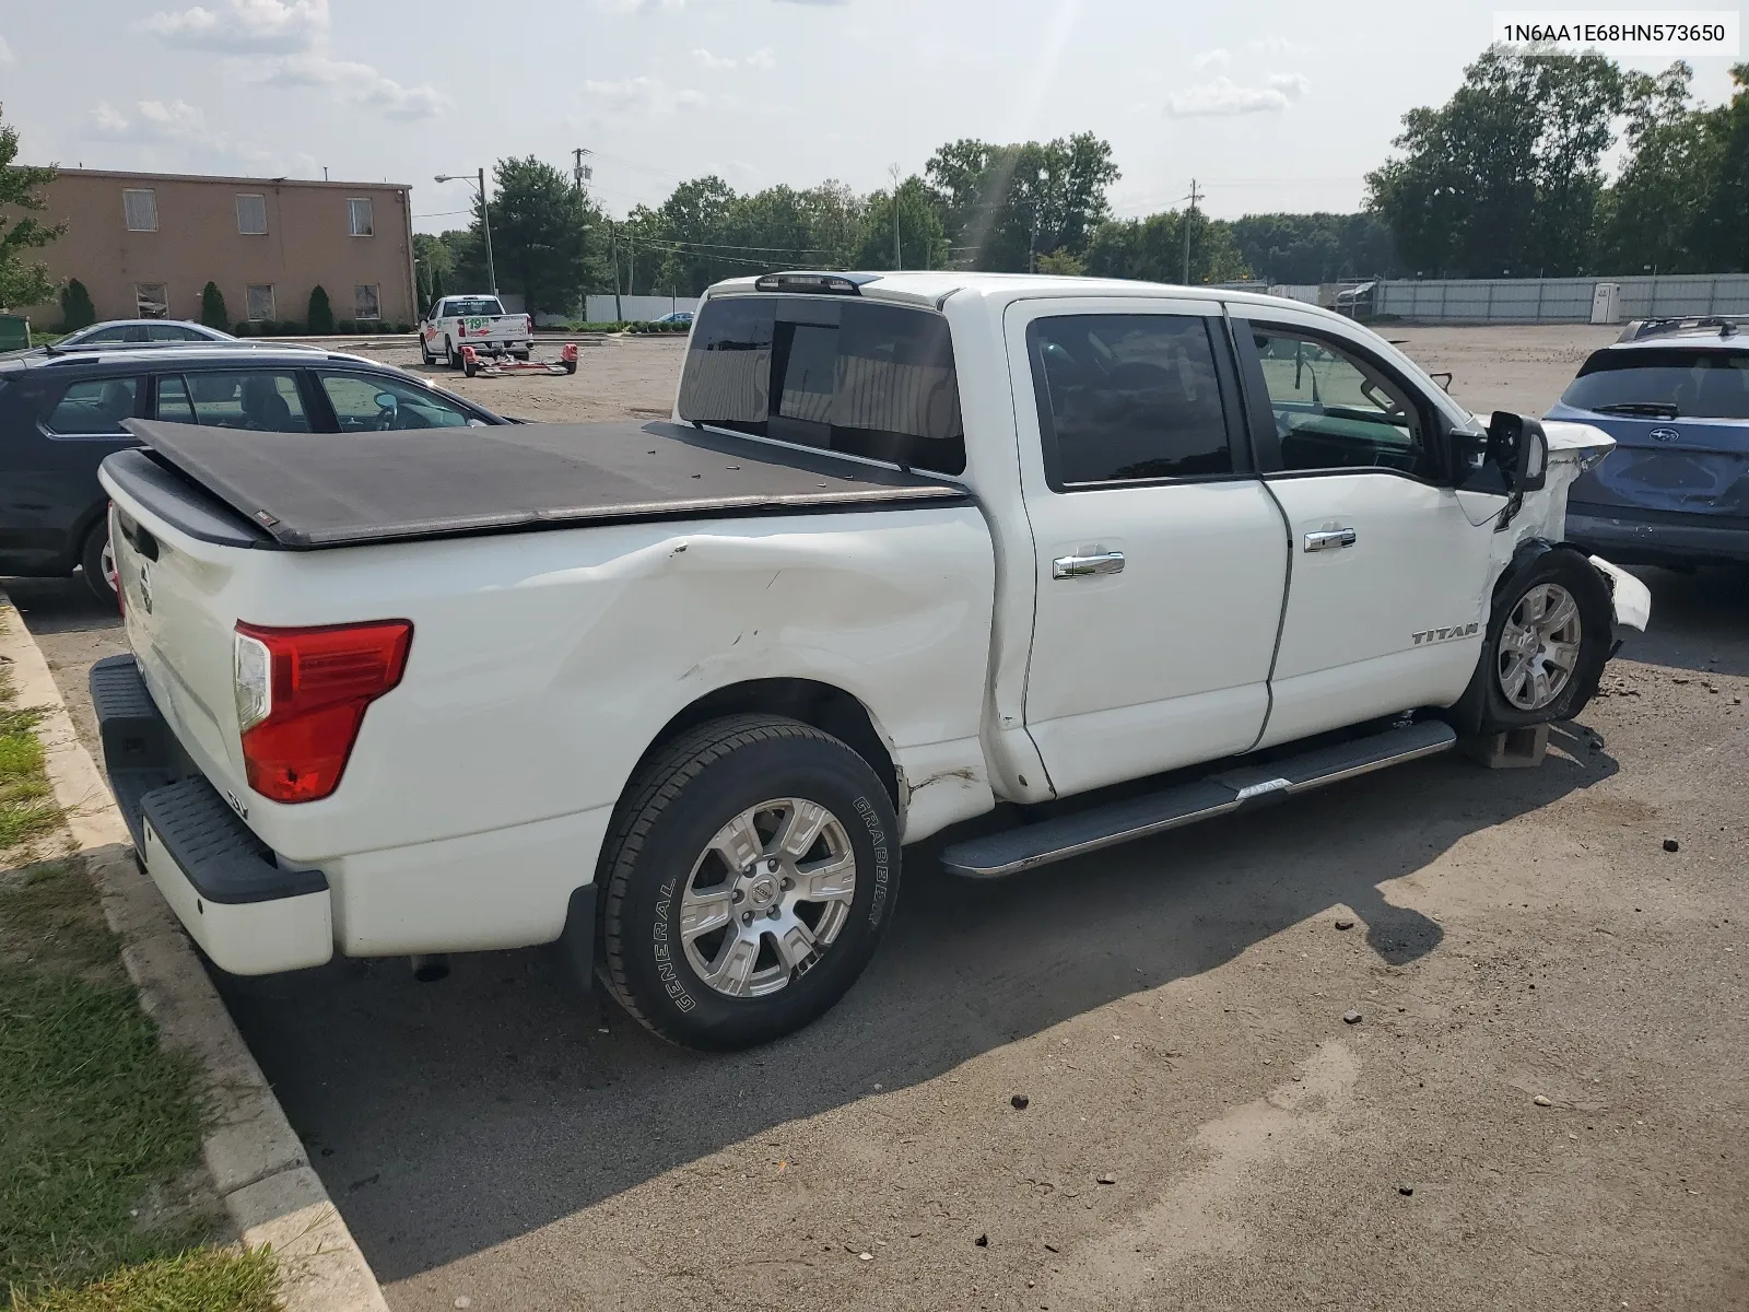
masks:
MULTIPOLYGON (((1385 332, 1530 411, 1613 336, 1385 332)), ((679 360, 460 388, 665 413, 679 360)), ((222 988, 397 1312, 1749 1307, 1749 574, 1644 577, 1541 770, 993 885, 911 850, 866 980, 759 1051, 666 1048, 533 950, 222 988)), ((7 586, 89 731, 114 621, 7 586)))

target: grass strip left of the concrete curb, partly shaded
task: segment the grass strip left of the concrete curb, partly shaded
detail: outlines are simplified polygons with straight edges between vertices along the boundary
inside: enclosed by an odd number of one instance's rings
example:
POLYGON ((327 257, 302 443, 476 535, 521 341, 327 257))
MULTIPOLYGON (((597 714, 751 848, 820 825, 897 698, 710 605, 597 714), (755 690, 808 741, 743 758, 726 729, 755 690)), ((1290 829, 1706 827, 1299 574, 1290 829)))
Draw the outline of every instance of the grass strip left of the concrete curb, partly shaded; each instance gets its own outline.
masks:
POLYGON ((0 677, 0 1307, 268 1312, 266 1249, 212 1247, 192 1058, 164 1051, 84 861, 59 833, 35 712, 0 677))

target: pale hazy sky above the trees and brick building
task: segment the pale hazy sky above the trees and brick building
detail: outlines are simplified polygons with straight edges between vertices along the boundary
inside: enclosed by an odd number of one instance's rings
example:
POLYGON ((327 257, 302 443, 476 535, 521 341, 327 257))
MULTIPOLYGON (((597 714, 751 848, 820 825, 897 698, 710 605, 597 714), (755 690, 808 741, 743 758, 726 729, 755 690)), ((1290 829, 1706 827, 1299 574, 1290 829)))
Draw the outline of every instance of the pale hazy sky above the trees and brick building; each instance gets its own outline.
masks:
MULTIPOLYGON (((1681 9, 1684 0, 1635 7, 1681 9)), ((1721 0, 1725 2, 1725 0, 1721 0)), ((467 222, 504 156, 588 147, 616 215, 682 178, 738 191, 920 171, 944 142, 1093 131, 1119 215, 1354 210, 1403 114, 1452 94, 1492 0, 58 0, 0 7, 23 163, 406 182, 467 222)), ((1595 12, 1595 10, 1593 10, 1595 12)), ((1746 52, 1749 54, 1749 52, 1746 52)), ((1660 59, 1628 61, 1658 68, 1660 59)), ((1730 96, 1728 59, 1695 91, 1730 96)))

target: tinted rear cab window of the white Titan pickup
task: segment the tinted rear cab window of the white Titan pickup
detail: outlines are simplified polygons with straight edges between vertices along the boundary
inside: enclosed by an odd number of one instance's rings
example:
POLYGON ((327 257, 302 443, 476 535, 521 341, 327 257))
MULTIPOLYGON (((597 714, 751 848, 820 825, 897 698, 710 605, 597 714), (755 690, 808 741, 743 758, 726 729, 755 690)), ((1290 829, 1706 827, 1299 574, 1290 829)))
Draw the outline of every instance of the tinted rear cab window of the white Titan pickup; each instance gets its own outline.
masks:
POLYGON ((936 474, 965 472, 948 322, 855 297, 724 296, 693 324, 680 418, 936 474))

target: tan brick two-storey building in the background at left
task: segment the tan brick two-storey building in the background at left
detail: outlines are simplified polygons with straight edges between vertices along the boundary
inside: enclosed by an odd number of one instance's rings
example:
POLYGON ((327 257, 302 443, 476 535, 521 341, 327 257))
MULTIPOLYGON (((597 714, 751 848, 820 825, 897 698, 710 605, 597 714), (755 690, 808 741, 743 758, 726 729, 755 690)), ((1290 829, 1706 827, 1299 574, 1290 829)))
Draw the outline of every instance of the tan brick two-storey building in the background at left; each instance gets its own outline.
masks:
MULTIPOLYGON (((413 324, 413 213, 388 182, 292 182, 63 168, 45 222, 66 233, 38 254, 79 278, 98 318, 199 318, 208 282, 233 324, 304 322, 310 290, 336 320, 413 324)), ((21 310, 21 306, 12 306, 21 310)), ((54 329, 59 306, 24 310, 54 329)))

